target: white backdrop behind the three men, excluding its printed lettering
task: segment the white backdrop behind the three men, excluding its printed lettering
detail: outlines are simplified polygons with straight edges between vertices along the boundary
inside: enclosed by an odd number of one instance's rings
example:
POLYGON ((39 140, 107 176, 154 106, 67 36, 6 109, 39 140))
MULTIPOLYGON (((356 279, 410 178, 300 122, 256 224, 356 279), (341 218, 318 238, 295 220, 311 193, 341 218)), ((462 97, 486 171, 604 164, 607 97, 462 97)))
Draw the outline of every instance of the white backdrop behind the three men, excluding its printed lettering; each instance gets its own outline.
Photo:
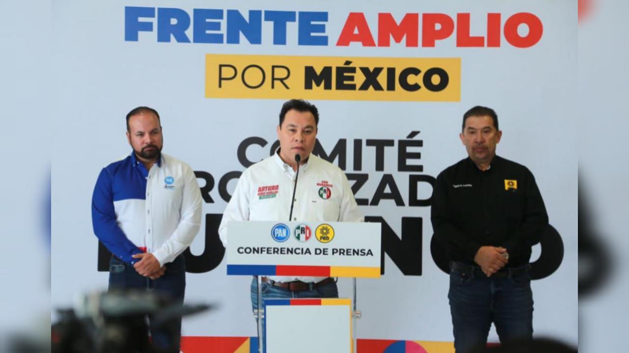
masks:
MULTIPOLYGON (((305 55, 330 57, 460 58, 460 100, 454 102, 387 100, 312 100, 321 120, 318 139, 327 153, 339 139, 347 139, 347 173, 369 173, 357 198, 372 200, 384 174, 391 174, 405 206, 392 200, 362 206, 365 215, 384 217, 401 234, 401 217, 423 218, 421 276, 405 276, 387 256, 386 273, 379 280, 359 280, 359 308, 363 318, 356 335, 370 339, 451 341, 452 325, 447 301, 448 276, 430 256, 430 207, 408 205, 409 172, 398 171, 398 143, 411 131, 421 131, 423 171, 436 177, 464 158, 460 144, 462 114, 481 104, 498 112, 503 139, 498 154, 528 166, 545 200, 550 223, 564 241, 565 256, 557 271, 533 281, 536 335, 550 335, 577 343, 577 155, 575 143, 576 2, 572 1, 398 1, 344 4, 324 1, 55 1, 52 6, 52 58, 54 82, 50 92, 50 119, 55 136, 52 150, 52 307, 71 305, 76 295, 106 288, 108 274, 97 272, 97 240, 91 227, 91 195, 103 166, 130 153, 125 138, 125 115, 133 107, 157 109, 164 126, 164 152, 186 161, 196 171, 213 175, 213 204, 206 214, 220 214, 226 202, 218 181, 229 171, 245 168, 237 158, 243 139, 259 136, 269 141, 252 146, 250 160, 269 155, 276 140, 277 114, 286 99, 216 99, 205 97, 206 54, 305 55), (321 11, 328 13, 327 46, 298 45, 296 25, 288 24, 287 44, 272 45, 272 26, 262 28, 262 44, 169 43, 157 41, 157 20, 152 32, 138 41, 125 41, 125 6, 321 11), (420 46, 392 41, 389 47, 335 45, 347 16, 365 14, 377 41, 377 14, 391 13, 396 20, 406 13, 420 14, 420 46), (498 48, 463 48, 455 33, 421 47, 421 14, 470 13, 472 35, 486 33, 487 13, 501 13, 503 23, 515 13, 535 14, 543 23, 543 36, 529 48, 515 48, 504 40, 498 48), (362 139, 362 170, 353 170, 353 140, 362 139), (394 140, 386 148, 384 171, 376 171, 375 148, 365 139, 394 140)), ((221 22, 225 33, 225 21, 221 22)), ((526 30, 520 29, 521 35, 526 30)), ((187 33, 192 38, 192 28, 187 33)), ((342 93, 342 92, 341 92, 342 93)), ((342 97, 342 96, 341 96, 342 97)), ((290 97, 286 97, 290 98, 290 97)), ((304 97, 308 99, 308 97, 304 97)), ((337 163, 335 161, 335 163, 337 163)), ((202 181, 200 181, 203 184, 202 181)), ((421 198, 430 186, 420 184, 421 198)), ((231 192, 235 180, 228 183, 231 192)), ((387 189, 389 192, 389 189, 387 189)), ((203 253, 205 225, 191 247, 203 253)), ((537 246, 533 260, 539 254, 537 246)), ((418 258, 419 261, 420 258, 418 258)), ((209 302, 218 310, 184 320, 183 335, 253 336, 250 278, 226 276, 225 263, 200 274, 187 274, 186 300, 209 302)), ((350 295, 350 281, 340 281, 342 296, 350 295)), ((491 340, 497 340, 495 332, 491 340)))

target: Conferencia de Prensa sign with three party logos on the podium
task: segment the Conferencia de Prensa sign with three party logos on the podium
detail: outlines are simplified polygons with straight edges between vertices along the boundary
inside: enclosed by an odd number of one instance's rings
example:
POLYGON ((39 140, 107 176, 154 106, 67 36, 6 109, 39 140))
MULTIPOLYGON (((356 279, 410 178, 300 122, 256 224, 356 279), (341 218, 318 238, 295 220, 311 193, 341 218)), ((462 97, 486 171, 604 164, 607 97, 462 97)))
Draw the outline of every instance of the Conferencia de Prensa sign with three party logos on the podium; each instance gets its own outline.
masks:
POLYGON ((381 224, 231 221, 227 274, 380 277, 381 224))

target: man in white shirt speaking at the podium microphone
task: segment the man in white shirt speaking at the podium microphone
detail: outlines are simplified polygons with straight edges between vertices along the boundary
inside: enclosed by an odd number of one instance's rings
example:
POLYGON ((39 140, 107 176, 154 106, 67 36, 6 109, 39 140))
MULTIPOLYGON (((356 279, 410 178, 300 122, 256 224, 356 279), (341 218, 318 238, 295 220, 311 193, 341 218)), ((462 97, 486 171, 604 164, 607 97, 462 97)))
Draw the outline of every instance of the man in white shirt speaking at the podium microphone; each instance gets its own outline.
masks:
MULTIPOLYGON (((299 177, 291 221, 363 222, 347 176, 338 166, 312 155, 318 133, 319 112, 301 99, 284 103, 279 114, 273 156, 242 173, 223 213, 218 232, 227 247, 230 220, 286 221, 299 161, 299 177), (298 160, 298 161, 296 161, 298 160)), ((262 299, 338 298, 335 279, 330 277, 262 277, 262 299)), ((251 283, 253 310, 257 310, 257 281, 251 283)))

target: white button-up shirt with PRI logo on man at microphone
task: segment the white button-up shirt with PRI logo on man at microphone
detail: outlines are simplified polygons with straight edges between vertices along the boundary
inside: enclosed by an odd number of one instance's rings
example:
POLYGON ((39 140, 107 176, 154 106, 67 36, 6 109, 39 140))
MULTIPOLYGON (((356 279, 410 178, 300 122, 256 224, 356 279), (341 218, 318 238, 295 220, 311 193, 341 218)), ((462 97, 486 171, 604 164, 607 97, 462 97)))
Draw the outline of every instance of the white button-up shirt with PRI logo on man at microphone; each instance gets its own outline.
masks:
MULTIPOLYGON (((279 157, 279 151, 245 170, 218 228, 227 244, 230 220, 288 220, 296 172, 279 157)), ((338 166, 310 155, 299 166, 291 221, 364 222, 347 176, 338 166)), ((318 282, 325 277, 269 276, 277 282, 318 282)))

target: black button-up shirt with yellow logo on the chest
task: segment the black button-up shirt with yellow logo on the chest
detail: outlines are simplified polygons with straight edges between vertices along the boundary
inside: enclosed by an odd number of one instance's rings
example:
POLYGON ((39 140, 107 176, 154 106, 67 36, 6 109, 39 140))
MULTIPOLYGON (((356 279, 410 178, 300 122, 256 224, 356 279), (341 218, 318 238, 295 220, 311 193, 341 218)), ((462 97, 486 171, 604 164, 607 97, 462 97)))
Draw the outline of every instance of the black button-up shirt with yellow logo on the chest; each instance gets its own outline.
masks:
POLYGON ((505 247, 508 267, 528 263, 548 215, 533 174, 495 156, 481 171, 470 158, 437 176, 431 200, 435 237, 450 260, 473 264, 479 247, 505 247))

